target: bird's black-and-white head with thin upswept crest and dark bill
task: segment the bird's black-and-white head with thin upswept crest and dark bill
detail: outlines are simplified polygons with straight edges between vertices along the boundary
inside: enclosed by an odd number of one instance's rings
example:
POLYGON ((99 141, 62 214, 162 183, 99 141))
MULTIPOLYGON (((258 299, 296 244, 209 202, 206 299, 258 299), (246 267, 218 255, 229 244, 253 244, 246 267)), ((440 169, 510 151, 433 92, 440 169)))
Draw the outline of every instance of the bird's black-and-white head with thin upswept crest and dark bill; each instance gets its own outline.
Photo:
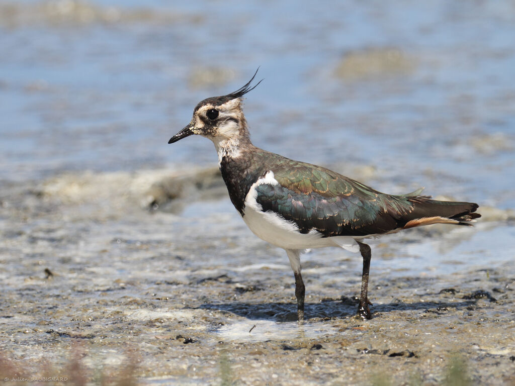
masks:
POLYGON ((243 87, 233 93, 199 102, 193 111, 191 122, 171 137, 168 143, 173 144, 193 134, 208 137, 215 144, 241 136, 248 137, 242 110, 242 97, 261 83, 260 80, 253 87, 250 86, 256 74, 258 71, 243 87))

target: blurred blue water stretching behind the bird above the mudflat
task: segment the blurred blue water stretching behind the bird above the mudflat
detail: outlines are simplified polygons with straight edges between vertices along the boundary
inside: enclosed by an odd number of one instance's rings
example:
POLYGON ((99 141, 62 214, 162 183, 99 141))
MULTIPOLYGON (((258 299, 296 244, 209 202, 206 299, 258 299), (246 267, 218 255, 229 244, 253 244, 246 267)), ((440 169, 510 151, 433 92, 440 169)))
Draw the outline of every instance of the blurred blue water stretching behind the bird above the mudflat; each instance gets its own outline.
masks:
POLYGON ((512 1, 3 0, 0 179, 216 165, 167 140, 261 66, 256 145, 513 207, 514 38, 512 1))

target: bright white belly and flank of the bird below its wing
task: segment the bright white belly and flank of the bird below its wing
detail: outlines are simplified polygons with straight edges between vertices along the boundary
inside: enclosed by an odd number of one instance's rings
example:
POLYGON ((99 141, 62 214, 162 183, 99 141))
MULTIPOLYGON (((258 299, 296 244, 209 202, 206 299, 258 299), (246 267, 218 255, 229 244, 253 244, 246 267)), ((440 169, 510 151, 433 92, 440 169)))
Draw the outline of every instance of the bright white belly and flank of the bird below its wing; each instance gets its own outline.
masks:
MULTIPOLYGON (((256 188, 264 184, 279 185, 274 178, 273 171, 268 171, 265 177, 252 184, 247 197, 245 197, 243 220, 256 236, 286 250, 341 247, 351 252, 359 252, 356 241, 350 236, 322 237, 322 234, 316 230, 300 233, 295 222, 287 221, 271 210, 263 212, 263 207, 256 200, 258 197, 256 188)), ((296 265, 295 263, 295 259, 292 261, 290 258, 292 268, 296 265)))

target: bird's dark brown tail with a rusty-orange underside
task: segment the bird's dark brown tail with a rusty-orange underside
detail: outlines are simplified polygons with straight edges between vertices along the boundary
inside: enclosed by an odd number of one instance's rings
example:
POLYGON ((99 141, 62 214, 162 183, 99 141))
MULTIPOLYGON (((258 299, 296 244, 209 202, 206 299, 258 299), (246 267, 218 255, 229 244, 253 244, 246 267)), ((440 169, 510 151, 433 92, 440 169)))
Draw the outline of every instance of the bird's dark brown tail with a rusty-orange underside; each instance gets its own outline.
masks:
POLYGON ((474 213, 479 205, 473 202, 437 201, 428 196, 408 196, 406 199, 414 206, 410 213, 402 216, 403 229, 439 223, 470 226, 481 217, 474 213))

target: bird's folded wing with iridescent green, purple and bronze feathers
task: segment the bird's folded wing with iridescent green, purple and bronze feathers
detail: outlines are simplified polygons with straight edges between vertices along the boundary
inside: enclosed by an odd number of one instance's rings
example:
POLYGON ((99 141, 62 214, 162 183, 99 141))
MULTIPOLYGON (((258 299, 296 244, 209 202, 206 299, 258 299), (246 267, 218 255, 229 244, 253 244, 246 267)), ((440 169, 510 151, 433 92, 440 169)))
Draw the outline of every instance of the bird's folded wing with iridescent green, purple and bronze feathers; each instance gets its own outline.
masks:
POLYGON ((324 236, 364 236, 398 227, 392 214, 408 213, 412 204, 382 194, 329 169, 282 160, 272 169, 278 184, 256 187, 256 200, 295 222, 301 233, 317 230, 324 236))

